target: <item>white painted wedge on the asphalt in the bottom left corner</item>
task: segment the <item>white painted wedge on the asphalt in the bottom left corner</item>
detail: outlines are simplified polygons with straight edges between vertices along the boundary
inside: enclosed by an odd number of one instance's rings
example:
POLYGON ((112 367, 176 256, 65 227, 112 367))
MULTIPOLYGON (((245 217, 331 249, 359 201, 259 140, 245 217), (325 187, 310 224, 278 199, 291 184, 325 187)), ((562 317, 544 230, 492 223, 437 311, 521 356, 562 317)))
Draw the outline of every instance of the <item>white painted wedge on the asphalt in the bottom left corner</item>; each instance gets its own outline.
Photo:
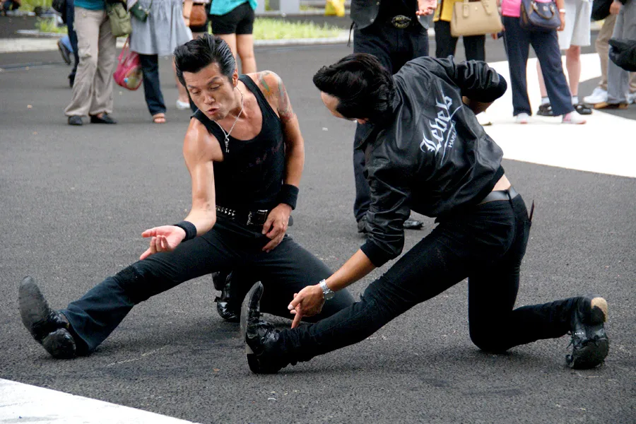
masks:
POLYGON ((191 421, 6 379, 0 379, 0 423, 193 424, 191 421))

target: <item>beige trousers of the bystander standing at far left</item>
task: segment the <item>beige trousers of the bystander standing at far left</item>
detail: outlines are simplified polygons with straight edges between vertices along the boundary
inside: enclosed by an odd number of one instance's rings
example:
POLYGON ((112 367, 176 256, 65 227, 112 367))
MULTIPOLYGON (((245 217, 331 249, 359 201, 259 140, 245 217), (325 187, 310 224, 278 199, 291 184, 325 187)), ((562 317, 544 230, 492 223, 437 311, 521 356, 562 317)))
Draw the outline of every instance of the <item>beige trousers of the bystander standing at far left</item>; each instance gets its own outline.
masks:
POLYGON ((79 65, 73 83, 67 117, 112 112, 112 71, 115 63, 115 37, 106 11, 75 8, 75 31, 79 65))

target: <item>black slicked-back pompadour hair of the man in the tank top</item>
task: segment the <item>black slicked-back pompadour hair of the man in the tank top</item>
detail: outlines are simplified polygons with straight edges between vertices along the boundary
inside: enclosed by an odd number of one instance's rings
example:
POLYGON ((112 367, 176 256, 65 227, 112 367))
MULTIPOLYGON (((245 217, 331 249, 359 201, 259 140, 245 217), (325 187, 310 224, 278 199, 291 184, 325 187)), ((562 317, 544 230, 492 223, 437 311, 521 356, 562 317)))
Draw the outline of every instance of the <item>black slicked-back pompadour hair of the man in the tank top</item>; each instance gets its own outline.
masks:
POLYGON ((204 34, 175 49, 177 78, 185 86, 184 72, 196 73, 209 64, 216 63, 221 73, 232 81, 236 61, 228 43, 216 35, 204 34))

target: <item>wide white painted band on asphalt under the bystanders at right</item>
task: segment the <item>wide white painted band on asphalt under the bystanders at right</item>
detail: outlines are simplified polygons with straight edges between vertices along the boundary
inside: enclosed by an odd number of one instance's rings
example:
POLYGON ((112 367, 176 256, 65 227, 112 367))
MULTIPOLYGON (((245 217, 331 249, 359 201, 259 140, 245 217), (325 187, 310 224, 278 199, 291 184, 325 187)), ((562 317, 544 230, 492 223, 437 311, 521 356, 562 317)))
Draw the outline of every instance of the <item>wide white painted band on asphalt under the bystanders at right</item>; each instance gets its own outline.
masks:
MULTIPOLYGON (((565 57, 563 57, 565 69, 565 57)), ((581 81, 601 75, 597 54, 583 54, 581 81)), ((510 81, 507 61, 490 64, 510 81)), ((533 113, 541 100, 536 78, 536 59, 528 60, 528 95, 533 113)), ((579 98, 589 93, 579 93, 579 98)), ((635 106, 632 105, 632 108, 635 106)), ((536 117, 530 124, 516 124, 512 117, 512 89, 488 108, 492 126, 485 130, 501 146, 504 157, 573 170, 636 177, 636 121, 594 110, 587 124, 561 124, 560 118, 536 117)))

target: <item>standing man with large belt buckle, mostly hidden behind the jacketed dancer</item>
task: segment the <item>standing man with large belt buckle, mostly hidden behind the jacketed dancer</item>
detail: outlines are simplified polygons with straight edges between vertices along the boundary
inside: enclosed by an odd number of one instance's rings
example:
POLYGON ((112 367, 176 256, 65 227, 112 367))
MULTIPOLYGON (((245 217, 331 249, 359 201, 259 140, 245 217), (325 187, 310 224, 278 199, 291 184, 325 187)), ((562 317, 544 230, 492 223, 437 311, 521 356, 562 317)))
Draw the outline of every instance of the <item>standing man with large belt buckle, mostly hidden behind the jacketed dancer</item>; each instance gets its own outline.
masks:
MULTIPOLYGON (((372 54, 391 73, 396 73, 411 59, 428 56, 428 18, 437 0, 352 0, 353 52, 372 54)), ((365 126, 355 130, 354 146, 358 146, 365 126)), ((366 213, 371 203, 369 184, 363 175, 365 155, 353 150, 355 202, 353 214, 358 232, 367 232, 366 213)), ((404 228, 422 228, 419 220, 407 219, 404 228)))

